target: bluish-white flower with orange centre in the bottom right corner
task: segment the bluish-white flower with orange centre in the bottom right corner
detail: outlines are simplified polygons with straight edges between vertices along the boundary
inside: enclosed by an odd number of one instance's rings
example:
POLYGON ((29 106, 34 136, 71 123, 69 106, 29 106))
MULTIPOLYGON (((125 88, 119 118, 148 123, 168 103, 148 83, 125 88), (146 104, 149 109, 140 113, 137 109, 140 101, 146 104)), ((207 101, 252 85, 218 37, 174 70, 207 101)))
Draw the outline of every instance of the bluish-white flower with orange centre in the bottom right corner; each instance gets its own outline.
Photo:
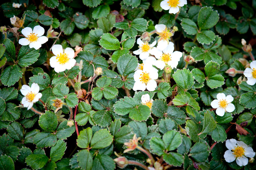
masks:
POLYGON ((251 147, 248 147, 244 142, 235 139, 228 139, 226 147, 229 149, 224 153, 225 161, 233 162, 236 160, 237 165, 245 166, 248 164, 248 158, 253 158, 255 152, 251 147))

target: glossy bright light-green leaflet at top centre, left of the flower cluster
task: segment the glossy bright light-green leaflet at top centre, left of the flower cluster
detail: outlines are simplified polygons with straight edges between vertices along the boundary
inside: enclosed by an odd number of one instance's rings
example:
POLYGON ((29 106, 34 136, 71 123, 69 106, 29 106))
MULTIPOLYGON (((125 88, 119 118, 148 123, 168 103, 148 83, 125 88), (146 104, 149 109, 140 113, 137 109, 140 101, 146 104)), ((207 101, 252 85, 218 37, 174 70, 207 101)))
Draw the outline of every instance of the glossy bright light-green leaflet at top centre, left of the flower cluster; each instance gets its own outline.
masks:
POLYGON ((110 33, 103 34, 99 42, 106 50, 118 50, 120 48, 119 40, 110 33))

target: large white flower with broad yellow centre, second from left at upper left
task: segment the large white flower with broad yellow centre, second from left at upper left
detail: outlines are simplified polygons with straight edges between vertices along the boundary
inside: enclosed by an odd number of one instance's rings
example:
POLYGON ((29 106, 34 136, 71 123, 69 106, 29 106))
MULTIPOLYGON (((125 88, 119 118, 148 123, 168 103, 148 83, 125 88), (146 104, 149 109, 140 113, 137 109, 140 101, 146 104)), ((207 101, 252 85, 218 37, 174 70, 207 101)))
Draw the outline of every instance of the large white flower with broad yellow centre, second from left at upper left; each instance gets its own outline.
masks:
POLYGON ((55 72, 69 70, 76 64, 75 52, 72 48, 67 47, 63 52, 62 45, 55 44, 51 50, 55 56, 50 58, 50 66, 54 68, 55 72))

